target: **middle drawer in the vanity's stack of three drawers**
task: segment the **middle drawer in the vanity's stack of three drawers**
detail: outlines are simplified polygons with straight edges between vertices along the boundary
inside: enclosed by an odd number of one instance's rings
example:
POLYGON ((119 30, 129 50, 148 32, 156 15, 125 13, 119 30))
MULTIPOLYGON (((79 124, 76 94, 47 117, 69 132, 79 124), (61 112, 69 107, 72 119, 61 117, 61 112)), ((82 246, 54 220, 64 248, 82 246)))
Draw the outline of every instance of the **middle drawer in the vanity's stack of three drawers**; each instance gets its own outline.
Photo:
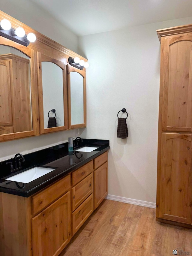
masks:
POLYGON ((93 193, 93 173, 71 188, 71 210, 72 212, 93 193))

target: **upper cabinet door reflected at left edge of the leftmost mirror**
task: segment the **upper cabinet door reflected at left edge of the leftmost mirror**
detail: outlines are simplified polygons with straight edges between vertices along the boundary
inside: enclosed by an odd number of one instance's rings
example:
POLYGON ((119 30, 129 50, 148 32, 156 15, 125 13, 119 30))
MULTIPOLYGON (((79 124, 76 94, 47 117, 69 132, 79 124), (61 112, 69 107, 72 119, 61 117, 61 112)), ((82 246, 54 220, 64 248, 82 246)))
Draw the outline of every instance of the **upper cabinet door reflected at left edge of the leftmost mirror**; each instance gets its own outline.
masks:
MULTIPOLYGON (((10 63, 0 61, 0 125, 13 125, 11 111, 10 63)), ((8 133, 8 132, 7 132, 8 133)), ((1 133, 1 134, 7 134, 1 133)))

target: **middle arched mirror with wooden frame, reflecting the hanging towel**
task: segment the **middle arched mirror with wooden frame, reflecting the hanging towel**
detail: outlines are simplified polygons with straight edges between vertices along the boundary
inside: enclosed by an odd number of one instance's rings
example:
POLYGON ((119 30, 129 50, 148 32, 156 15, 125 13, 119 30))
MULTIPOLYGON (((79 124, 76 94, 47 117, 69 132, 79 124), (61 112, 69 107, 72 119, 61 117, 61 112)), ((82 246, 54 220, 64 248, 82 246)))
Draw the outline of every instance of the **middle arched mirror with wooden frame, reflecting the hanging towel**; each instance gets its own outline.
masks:
POLYGON ((67 123, 65 64, 38 52, 40 133, 62 131, 67 123))

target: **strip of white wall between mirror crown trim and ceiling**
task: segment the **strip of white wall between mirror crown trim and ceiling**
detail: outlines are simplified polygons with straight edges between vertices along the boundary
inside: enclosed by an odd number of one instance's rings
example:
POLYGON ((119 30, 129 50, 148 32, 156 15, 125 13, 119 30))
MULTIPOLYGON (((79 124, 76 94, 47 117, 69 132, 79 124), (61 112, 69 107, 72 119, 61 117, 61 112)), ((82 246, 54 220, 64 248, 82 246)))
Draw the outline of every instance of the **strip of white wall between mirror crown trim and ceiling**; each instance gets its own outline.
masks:
POLYGON ((1 0, 1 11, 77 52, 77 36, 29 0, 1 0))

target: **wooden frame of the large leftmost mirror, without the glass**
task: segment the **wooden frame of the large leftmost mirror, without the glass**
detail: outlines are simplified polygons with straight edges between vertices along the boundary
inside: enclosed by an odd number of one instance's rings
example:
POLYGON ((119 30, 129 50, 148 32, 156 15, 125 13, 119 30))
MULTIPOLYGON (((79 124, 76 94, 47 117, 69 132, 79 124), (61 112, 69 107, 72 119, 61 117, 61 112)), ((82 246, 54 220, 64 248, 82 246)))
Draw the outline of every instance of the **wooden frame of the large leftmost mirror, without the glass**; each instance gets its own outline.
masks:
POLYGON ((38 132, 37 128, 37 122, 38 122, 38 116, 37 116, 37 102, 36 102, 36 96, 37 96, 37 89, 35 84, 35 55, 34 50, 25 47, 21 44, 15 43, 7 38, 0 36, 0 45, 13 47, 16 50, 21 51, 26 56, 30 58, 30 77, 31 77, 31 104, 32 104, 32 129, 31 131, 22 131, 22 132, 16 132, 16 133, 9 133, 9 134, 2 134, 0 135, 0 142, 1 141, 7 141, 7 140, 13 140, 13 139, 19 139, 23 137, 29 137, 34 136, 38 132))

